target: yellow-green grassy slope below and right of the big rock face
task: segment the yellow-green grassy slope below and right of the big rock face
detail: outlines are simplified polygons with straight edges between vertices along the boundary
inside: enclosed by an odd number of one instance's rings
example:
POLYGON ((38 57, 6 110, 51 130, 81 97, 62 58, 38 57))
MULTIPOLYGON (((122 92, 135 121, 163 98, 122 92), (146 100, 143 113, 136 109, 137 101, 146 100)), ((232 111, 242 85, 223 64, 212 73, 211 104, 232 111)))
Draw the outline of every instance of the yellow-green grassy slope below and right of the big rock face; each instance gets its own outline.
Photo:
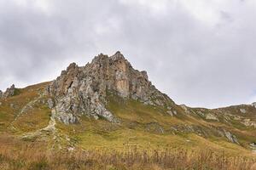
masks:
POLYGON ((110 97, 108 110, 121 120, 119 125, 104 120, 83 117, 79 125, 58 124, 62 132, 69 133, 86 150, 166 150, 166 148, 200 150, 207 148, 225 151, 232 156, 253 156, 238 144, 232 144, 224 138, 209 136, 207 139, 195 133, 173 133, 172 126, 201 125, 210 126, 194 117, 180 115, 169 116, 152 106, 124 99, 110 97))

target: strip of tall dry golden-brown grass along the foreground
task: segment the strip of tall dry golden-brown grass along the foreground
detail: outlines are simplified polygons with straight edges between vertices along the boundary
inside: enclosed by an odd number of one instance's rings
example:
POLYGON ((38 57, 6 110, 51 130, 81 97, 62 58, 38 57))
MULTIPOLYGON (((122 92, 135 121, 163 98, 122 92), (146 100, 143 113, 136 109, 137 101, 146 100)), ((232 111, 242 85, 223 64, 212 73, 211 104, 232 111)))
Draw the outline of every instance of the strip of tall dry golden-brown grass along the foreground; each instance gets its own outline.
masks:
POLYGON ((47 150, 42 142, 24 142, 12 136, 0 138, 0 169, 173 169, 173 170, 249 170, 252 158, 227 156, 212 150, 143 150, 131 147, 116 150, 47 150))

